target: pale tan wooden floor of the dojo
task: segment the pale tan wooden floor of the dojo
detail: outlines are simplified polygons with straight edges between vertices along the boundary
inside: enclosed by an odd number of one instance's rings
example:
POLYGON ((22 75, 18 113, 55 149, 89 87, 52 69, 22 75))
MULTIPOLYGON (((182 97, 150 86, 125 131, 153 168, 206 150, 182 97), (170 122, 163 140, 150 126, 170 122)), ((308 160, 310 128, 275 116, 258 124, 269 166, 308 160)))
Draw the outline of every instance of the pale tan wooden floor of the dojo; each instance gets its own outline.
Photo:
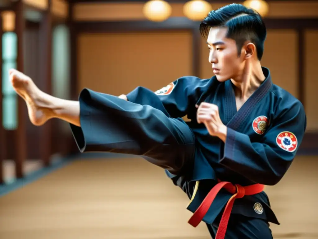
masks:
MULTIPOLYGON (((280 226, 274 238, 318 238, 317 157, 297 157, 266 187, 280 226)), ((1 239, 203 239, 189 200, 160 168, 139 158, 81 159, 0 198, 1 239)))

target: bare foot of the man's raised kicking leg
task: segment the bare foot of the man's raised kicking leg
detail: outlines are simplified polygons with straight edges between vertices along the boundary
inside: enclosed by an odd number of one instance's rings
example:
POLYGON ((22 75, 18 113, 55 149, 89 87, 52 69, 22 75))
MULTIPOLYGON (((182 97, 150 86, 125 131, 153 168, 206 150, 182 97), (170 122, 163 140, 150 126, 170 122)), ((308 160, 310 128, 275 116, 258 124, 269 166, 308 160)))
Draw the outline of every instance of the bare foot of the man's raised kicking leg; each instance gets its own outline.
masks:
POLYGON ((13 89, 25 100, 32 124, 41 126, 52 118, 46 107, 44 92, 38 89, 29 76, 15 69, 10 69, 9 76, 13 89))

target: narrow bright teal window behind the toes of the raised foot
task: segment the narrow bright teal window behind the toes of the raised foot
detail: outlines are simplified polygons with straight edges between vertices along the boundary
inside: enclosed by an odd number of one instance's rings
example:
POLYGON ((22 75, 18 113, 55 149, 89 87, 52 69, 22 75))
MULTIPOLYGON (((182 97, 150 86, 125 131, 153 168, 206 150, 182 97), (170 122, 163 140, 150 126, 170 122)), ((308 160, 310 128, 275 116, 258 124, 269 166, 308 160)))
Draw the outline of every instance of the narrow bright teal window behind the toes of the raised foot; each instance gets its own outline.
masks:
POLYGON ((6 32, 2 35, 2 124, 6 130, 17 128, 17 94, 10 84, 11 68, 17 68, 17 35, 6 32))

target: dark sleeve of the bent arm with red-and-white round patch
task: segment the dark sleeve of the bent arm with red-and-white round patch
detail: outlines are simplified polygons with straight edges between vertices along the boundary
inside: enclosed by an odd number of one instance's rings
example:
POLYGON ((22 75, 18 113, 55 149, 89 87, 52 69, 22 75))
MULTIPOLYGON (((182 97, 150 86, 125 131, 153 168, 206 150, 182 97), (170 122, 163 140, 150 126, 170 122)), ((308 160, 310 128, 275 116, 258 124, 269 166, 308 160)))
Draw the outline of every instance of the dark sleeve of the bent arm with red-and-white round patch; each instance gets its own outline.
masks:
POLYGON ((305 129, 306 115, 300 102, 281 112, 261 142, 251 142, 248 135, 228 128, 220 163, 255 183, 275 185, 291 165, 305 129))

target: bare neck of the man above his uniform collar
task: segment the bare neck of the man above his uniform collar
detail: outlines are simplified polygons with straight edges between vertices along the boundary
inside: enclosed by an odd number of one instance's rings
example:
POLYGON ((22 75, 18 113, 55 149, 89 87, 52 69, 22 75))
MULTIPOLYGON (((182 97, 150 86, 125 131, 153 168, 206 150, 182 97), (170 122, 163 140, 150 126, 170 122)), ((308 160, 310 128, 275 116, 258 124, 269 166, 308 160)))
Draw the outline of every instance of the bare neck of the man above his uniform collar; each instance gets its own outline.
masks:
POLYGON ((231 79, 235 85, 235 95, 241 99, 249 98, 266 79, 260 62, 246 62, 242 75, 231 79))

